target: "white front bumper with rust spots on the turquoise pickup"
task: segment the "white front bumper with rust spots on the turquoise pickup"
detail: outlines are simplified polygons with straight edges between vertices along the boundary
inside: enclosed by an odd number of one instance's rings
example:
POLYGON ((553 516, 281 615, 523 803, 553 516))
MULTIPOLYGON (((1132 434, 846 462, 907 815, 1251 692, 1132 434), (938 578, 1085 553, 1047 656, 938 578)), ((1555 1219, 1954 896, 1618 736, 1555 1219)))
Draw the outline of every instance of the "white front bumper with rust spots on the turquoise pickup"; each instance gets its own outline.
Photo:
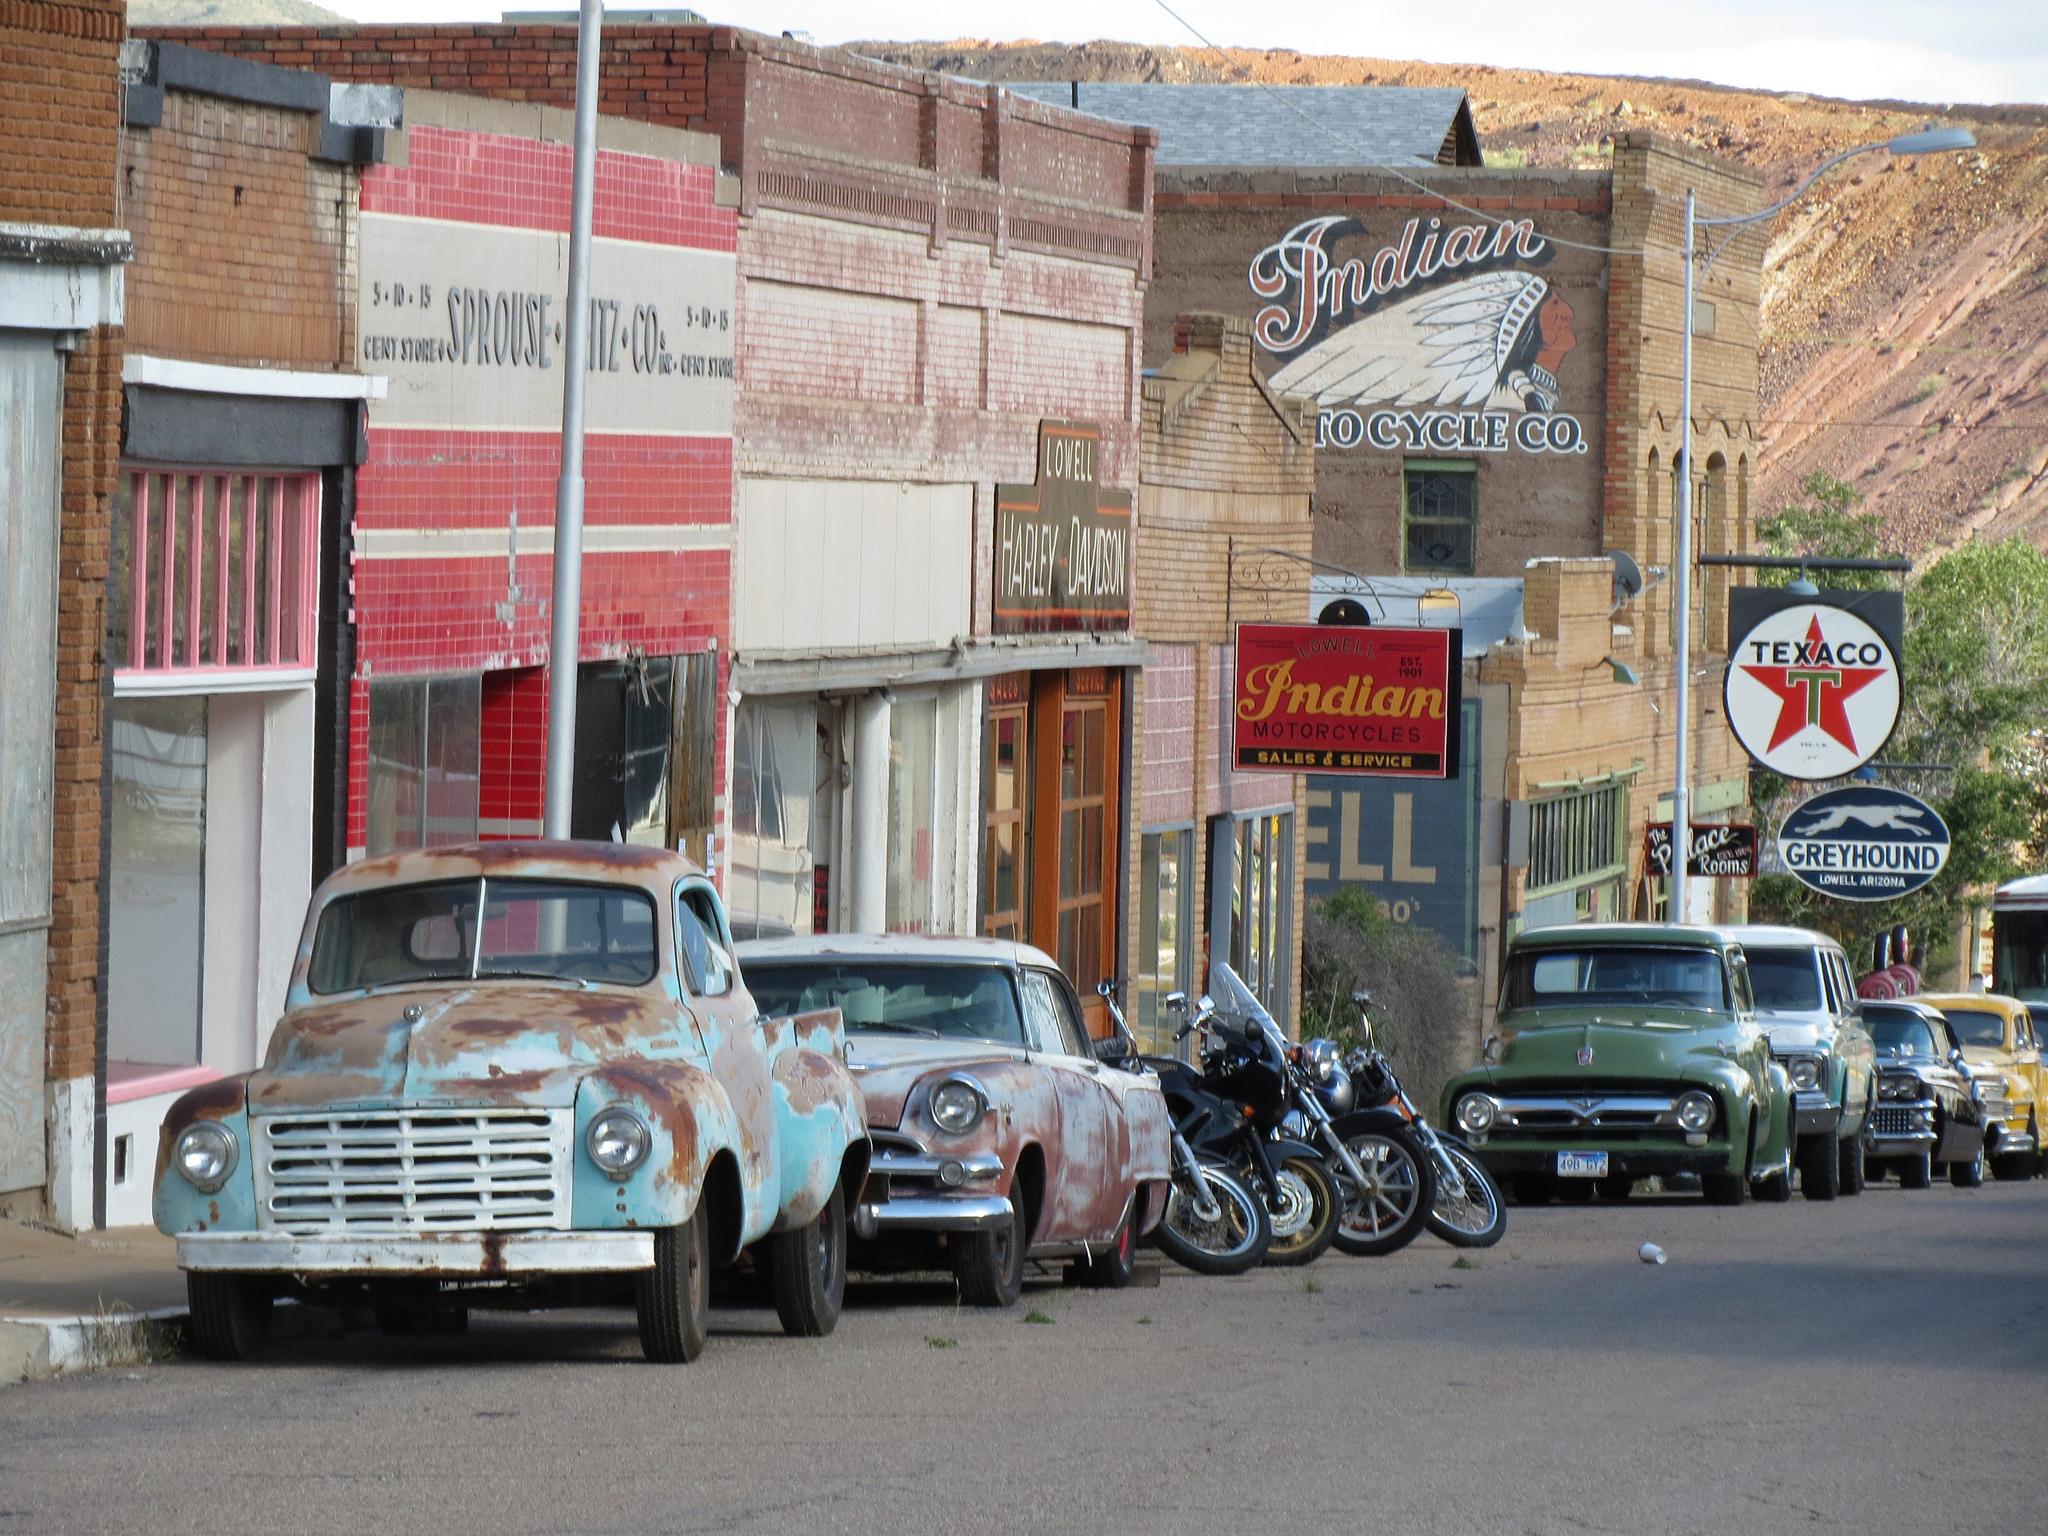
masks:
POLYGON ((444 1280, 618 1274, 653 1268, 653 1233, 182 1233, 178 1268, 444 1280))

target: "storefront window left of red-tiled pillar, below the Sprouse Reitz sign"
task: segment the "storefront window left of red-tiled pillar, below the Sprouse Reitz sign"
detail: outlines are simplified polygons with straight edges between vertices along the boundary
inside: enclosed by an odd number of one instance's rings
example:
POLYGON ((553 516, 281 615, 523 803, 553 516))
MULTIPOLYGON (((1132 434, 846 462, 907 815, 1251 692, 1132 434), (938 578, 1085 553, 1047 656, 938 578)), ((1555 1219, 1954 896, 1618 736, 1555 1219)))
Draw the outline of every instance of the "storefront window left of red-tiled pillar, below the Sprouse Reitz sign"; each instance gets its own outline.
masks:
POLYGON ((371 684, 369 852, 471 842, 483 680, 371 684))

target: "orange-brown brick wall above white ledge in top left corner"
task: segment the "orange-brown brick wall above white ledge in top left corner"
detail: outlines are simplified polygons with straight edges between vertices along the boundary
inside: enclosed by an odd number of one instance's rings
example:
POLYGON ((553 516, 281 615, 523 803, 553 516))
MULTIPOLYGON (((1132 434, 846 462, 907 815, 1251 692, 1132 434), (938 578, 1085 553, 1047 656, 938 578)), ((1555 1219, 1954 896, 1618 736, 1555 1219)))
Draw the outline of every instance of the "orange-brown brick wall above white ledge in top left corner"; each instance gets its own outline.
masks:
POLYGON ((121 0, 0 0, 0 221, 121 223, 121 0))

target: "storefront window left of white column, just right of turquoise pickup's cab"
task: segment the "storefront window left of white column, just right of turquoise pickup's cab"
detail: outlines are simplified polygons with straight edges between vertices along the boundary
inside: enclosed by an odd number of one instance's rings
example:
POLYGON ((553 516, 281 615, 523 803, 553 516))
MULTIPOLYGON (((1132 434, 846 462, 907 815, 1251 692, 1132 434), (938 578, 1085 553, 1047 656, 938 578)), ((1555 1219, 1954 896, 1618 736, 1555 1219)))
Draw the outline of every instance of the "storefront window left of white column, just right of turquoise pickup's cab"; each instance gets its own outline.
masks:
POLYGON ((813 821, 829 815, 834 782, 823 745, 811 698, 743 698, 733 713, 725 895, 739 938, 825 928, 827 866, 813 860, 813 821))

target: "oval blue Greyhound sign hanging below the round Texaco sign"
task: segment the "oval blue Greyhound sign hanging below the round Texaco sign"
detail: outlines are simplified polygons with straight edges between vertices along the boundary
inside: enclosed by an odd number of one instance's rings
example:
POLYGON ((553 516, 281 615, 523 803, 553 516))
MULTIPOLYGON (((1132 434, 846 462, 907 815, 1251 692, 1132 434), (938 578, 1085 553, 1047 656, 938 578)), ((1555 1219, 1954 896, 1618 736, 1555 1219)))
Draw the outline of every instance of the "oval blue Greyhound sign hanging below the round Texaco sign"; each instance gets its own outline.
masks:
POLYGON ((1784 819, 1778 858, 1821 895, 1890 901, 1942 872, 1948 823, 1901 788, 1847 784, 1815 795, 1784 819))

